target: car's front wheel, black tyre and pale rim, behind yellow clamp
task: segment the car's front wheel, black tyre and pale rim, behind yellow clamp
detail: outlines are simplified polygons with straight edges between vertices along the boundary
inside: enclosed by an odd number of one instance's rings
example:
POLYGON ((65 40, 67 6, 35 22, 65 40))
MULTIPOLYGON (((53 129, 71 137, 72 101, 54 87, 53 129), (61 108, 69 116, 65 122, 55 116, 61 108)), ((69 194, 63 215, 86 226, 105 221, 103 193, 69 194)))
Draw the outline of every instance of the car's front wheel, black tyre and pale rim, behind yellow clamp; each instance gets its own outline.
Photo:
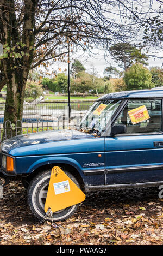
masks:
MULTIPOLYGON (((64 172, 68 177, 71 178, 71 180, 78 187, 80 187, 78 181, 72 174, 70 174, 70 172, 67 172, 67 171, 64 171, 64 172)), ((30 210, 40 220, 45 217, 44 206, 45 206, 50 177, 51 177, 51 170, 47 170, 39 173, 30 182, 28 191, 27 191, 27 202, 30 207, 30 210)), ((78 209, 78 205, 79 204, 54 212, 53 221, 63 221, 64 219, 69 218, 78 209)), ((51 218, 47 217, 47 220, 51 220, 51 218)))

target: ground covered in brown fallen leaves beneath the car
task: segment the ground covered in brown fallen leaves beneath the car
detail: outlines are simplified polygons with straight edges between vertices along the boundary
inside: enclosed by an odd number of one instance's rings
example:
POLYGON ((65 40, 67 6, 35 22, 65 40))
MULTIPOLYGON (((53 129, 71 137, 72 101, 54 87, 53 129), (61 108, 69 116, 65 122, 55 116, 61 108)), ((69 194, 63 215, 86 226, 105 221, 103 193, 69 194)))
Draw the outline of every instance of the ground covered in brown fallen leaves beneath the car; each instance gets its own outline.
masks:
POLYGON ((0 245, 163 245, 163 199, 158 188, 86 194, 79 210, 59 228, 40 224, 19 182, 0 199, 0 245))

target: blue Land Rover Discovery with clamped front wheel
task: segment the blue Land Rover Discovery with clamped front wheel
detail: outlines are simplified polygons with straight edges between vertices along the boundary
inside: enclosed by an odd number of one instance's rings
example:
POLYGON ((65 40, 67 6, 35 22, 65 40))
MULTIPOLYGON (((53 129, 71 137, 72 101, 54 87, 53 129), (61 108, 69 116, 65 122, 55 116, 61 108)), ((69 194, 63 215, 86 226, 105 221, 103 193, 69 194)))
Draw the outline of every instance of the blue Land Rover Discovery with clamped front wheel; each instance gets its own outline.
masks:
MULTIPOLYGON (((44 205, 53 166, 83 191, 163 183, 163 90, 106 94, 76 129, 19 135, 1 145, 1 176, 21 177, 34 215, 44 205)), ((70 217, 78 205, 53 213, 70 217)))

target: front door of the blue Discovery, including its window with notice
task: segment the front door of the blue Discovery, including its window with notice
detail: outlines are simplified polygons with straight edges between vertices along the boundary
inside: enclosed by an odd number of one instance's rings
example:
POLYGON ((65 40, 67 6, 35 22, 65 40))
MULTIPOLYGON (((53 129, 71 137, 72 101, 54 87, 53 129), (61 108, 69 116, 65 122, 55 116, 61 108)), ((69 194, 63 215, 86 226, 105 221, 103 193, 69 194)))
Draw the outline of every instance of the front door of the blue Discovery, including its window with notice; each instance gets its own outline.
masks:
POLYGON ((115 124, 127 131, 105 137, 105 184, 163 181, 162 100, 128 100, 115 124))

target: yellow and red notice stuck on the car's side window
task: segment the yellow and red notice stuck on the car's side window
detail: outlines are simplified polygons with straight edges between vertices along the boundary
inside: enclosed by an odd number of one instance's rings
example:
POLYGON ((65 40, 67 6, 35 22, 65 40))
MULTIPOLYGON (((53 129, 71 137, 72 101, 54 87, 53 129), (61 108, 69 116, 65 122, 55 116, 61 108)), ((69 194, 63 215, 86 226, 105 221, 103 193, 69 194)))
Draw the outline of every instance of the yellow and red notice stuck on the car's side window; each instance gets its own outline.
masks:
POLYGON ((128 111, 128 114, 133 124, 140 123, 150 118, 148 110, 145 105, 139 106, 139 108, 128 111))

